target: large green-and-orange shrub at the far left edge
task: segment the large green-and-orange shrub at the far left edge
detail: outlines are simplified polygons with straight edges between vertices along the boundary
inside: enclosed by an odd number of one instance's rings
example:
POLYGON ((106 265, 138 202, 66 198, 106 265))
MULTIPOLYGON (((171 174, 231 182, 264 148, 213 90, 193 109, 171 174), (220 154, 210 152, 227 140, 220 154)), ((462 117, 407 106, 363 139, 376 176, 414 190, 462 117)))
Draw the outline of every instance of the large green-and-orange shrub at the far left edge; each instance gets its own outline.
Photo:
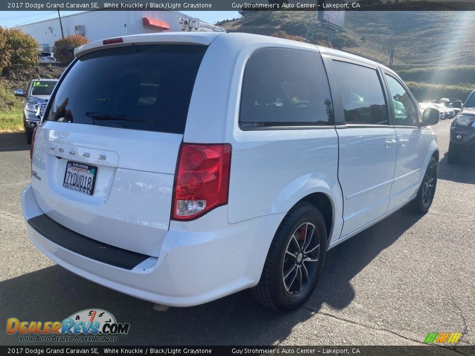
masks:
POLYGON ((0 73, 38 65, 38 42, 18 29, 0 26, 0 73))

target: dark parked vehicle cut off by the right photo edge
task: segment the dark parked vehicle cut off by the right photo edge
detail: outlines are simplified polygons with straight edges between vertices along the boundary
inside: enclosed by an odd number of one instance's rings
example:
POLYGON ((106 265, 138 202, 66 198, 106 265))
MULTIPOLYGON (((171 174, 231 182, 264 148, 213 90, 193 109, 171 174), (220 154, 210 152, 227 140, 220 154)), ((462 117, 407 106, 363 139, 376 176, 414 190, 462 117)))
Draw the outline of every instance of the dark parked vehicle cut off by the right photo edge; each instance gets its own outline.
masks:
POLYGON ((447 162, 458 163, 462 156, 475 150, 475 90, 465 101, 462 110, 450 126, 447 162))

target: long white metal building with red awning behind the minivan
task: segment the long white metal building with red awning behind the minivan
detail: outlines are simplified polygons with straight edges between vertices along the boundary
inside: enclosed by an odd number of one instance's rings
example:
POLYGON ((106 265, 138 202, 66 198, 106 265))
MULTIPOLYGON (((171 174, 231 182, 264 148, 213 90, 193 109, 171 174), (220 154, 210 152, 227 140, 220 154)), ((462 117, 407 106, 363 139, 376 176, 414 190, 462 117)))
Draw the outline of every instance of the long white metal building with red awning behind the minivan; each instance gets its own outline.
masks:
MULTIPOLYGON (((221 31, 226 29, 210 25, 179 11, 87 11, 61 16, 64 36, 82 35, 89 41, 110 37, 151 32, 221 31)), ((39 21, 15 27, 34 37, 40 50, 52 51, 54 42, 61 38, 59 19, 39 21)))

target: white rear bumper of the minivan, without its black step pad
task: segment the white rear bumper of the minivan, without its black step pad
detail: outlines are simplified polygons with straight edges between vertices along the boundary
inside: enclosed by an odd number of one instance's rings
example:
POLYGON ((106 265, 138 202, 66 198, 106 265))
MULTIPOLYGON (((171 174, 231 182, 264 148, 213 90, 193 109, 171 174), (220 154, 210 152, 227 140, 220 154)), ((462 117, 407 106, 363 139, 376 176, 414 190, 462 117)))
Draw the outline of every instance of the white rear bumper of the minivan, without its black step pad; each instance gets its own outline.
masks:
POLYGON ((256 285, 285 215, 229 224, 223 206, 193 222, 171 222, 159 256, 126 269, 60 246, 45 236, 52 230, 33 228, 28 221, 44 213, 30 185, 22 193, 22 210, 31 241, 58 265, 119 292, 174 307, 203 304, 256 285))

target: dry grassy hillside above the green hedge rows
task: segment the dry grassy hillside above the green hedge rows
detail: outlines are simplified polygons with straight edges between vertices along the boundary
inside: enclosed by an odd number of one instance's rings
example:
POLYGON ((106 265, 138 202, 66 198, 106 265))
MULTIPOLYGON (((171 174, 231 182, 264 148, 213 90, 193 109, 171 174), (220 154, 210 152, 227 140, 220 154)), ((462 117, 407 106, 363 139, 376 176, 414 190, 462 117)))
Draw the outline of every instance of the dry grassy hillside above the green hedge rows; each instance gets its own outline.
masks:
MULTIPOLYGON (((309 28, 316 39, 326 40, 314 17, 313 11, 260 11, 219 25, 230 32, 285 31, 302 37, 309 28)), ((474 65, 474 33, 473 11, 347 11, 345 31, 334 40, 344 40, 343 50, 383 63, 393 47, 395 65, 474 65)))

